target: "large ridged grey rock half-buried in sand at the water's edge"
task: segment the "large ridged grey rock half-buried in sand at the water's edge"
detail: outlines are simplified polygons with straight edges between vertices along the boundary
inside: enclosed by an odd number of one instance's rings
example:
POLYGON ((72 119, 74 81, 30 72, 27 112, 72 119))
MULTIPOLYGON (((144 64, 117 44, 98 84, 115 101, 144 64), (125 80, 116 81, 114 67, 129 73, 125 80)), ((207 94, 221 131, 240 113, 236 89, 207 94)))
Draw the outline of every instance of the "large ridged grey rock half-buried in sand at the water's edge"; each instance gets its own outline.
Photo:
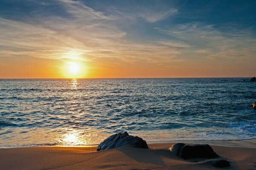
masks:
POLYGON ((138 136, 130 136, 127 132, 123 132, 109 136, 99 144, 97 151, 113 149, 127 144, 130 144, 133 147, 148 148, 147 142, 142 138, 138 136))

